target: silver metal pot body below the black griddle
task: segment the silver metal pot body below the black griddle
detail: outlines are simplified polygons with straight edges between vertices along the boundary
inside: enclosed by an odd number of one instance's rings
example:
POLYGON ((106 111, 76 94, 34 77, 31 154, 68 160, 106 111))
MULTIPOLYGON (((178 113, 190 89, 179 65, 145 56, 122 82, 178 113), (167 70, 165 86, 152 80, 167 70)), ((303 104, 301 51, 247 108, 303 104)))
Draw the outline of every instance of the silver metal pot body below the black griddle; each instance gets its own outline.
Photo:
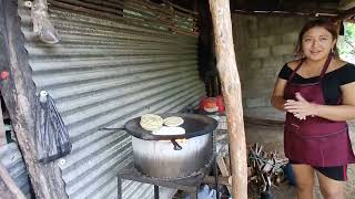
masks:
POLYGON ((185 177, 203 168, 213 153, 212 134, 176 140, 144 140, 132 137, 134 167, 152 177, 185 177))

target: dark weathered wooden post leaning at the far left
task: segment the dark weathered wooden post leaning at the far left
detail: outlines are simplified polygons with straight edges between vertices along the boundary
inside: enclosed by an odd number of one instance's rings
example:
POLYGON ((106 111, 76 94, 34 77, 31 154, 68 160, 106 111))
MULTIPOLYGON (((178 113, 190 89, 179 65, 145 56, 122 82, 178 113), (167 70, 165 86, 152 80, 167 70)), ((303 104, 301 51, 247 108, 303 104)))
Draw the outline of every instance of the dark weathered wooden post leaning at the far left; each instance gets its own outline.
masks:
POLYGON ((0 46, 4 59, 0 72, 9 76, 1 81, 1 94, 7 105, 37 198, 65 199, 64 182, 57 164, 40 164, 34 150, 36 87, 28 64, 17 0, 0 0, 0 46))

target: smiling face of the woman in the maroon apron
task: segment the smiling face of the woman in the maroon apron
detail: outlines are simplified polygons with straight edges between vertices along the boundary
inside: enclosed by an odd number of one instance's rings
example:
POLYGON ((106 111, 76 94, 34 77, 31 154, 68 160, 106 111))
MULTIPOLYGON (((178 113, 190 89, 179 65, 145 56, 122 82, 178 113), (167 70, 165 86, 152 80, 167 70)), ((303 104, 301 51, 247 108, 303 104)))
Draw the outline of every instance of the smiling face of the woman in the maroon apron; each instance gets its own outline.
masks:
POLYGON ((302 51, 312 61, 326 59, 336 40, 323 27, 314 27, 306 31, 302 38, 302 51))

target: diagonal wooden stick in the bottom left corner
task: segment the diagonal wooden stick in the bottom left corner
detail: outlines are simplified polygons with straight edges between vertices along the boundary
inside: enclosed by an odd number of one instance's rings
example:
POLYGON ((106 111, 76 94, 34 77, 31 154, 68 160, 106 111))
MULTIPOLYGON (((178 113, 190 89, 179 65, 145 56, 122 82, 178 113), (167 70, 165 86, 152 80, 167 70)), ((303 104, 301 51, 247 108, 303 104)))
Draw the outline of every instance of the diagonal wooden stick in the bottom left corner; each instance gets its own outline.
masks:
POLYGON ((0 161, 0 179, 4 182, 8 191, 14 196, 17 199, 26 199, 24 195, 20 190, 20 188, 16 185, 13 179, 11 178, 8 169, 0 161))

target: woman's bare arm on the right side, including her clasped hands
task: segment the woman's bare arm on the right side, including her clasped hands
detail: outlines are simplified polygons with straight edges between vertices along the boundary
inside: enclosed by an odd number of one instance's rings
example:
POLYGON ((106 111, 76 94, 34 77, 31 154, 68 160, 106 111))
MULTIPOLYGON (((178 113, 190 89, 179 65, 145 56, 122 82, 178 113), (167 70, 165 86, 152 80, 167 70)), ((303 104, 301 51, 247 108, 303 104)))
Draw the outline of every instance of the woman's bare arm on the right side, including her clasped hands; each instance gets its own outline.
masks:
POLYGON ((329 121, 349 121, 355 118, 355 82, 341 86, 343 93, 342 105, 320 105, 305 101, 296 94, 297 101, 287 101, 285 109, 298 118, 318 116, 329 121))

